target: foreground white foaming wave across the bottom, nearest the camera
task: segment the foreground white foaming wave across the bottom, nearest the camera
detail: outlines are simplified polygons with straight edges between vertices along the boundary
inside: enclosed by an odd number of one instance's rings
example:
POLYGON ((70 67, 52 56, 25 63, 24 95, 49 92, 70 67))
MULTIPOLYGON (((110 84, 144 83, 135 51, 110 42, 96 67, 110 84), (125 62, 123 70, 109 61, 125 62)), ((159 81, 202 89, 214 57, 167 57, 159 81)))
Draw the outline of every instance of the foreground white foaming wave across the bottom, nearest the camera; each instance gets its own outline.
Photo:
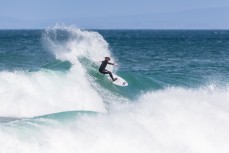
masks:
POLYGON ((228 95, 228 89, 213 85, 167 88, 117 105, 109 114, 62 112, 9 122, 0 126, 0 151, 226 153, 228 95))

